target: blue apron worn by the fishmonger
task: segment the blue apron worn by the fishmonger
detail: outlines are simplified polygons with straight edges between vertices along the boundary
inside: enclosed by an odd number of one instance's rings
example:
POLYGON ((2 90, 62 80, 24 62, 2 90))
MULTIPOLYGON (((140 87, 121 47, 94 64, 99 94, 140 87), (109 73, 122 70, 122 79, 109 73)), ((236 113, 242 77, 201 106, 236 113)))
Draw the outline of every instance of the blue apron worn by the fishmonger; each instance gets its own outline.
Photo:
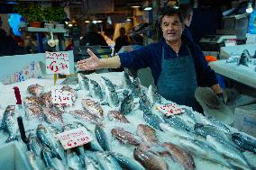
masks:
POLYGON ((161 72, 157 82, 159 94, 174 103, 200 110, 195 98, 197 73, 190 50, 182 58, 165 59, 164 56, 162 47, 161 72))

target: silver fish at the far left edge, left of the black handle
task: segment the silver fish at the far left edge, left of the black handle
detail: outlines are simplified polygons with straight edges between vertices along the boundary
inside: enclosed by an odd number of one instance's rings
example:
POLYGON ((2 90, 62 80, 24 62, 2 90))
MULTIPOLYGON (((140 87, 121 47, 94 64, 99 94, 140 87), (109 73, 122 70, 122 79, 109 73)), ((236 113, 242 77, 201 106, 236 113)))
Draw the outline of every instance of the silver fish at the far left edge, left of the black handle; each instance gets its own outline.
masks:
POLYGON ((15 105, 8 105, 5 109, 1 124, 1 130, 9 134, 8 139, 5 140, 6 143, 18 140, 16 117, 15 105))

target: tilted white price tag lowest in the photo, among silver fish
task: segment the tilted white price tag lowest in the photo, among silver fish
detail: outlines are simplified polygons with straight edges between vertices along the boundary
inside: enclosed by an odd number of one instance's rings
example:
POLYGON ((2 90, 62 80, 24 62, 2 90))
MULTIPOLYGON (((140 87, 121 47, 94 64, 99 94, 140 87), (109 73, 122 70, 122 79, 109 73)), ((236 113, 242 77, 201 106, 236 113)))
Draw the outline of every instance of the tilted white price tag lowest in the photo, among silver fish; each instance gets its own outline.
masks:
POLYGON ((85 145, 93 140, 83 127, 59 133, 57 138, 65 150, 85 145))

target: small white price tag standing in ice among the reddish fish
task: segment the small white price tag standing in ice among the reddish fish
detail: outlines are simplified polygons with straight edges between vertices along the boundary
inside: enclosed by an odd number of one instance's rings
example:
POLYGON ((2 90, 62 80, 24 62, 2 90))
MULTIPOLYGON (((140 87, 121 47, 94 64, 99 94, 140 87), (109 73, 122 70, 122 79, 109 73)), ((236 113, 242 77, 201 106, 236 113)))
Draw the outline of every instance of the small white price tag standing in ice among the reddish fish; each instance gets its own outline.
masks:
POLYGON ((52 103, 72 105, 72 94, 69 91, 63 91, 58 89, 51 90, 52 103))

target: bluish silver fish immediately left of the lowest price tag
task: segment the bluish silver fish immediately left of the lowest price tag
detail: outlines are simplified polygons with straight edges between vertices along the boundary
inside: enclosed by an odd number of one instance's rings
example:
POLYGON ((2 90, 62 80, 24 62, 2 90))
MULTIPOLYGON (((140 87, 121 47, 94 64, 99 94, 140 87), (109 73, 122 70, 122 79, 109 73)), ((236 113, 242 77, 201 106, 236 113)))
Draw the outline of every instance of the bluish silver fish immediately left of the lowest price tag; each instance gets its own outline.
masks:
POLYGON ((44 128, 44 126, 42 124, 39 124, 36 130, 37 138, 40 139, 41 144, 43 146, 50 148, 52 157, 57 157, 59 160, 62 160, 54 144, 52 143, 52 140, 50 139, 49 135, 47 135, 46 133, 47 133, 47 130, 44 128))

